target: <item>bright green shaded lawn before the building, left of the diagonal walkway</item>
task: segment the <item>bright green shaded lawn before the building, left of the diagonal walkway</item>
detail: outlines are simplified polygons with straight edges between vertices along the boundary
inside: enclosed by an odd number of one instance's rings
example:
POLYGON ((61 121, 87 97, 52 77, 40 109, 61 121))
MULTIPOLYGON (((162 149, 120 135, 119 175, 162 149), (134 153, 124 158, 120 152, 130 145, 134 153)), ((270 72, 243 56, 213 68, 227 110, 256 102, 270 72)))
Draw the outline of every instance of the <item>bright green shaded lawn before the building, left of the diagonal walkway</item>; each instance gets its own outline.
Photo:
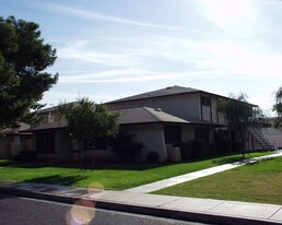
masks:
MULTIPOLYGON (((269 153, 251 153, 247 157, 269 153)), ((80 170, 72 164, 38 164, 0 168, 0 179, 90 187, 101 183, 105 189, 124 190, 161 179, 240 161, 242 155, 230 155, 199 162, 177 164, 114 164, 96 165, 92 170, 80 170)))

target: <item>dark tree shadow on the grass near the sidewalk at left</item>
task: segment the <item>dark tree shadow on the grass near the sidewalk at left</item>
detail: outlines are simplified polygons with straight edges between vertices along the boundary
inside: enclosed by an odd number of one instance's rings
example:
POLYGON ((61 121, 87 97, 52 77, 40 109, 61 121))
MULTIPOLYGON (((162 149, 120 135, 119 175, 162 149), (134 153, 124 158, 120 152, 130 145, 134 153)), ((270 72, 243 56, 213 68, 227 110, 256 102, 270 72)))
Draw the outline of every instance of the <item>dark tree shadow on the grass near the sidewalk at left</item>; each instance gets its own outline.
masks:
POLYGON ((51 175, 45 177, 38 177, 34 179, 24 180, 24 182, 38 182, 38 183, 51 183, 51 185, 60 185, 60 186, 73 186, 79 181, 86 179, 84 176, 60 176, 60 175, 51 175))

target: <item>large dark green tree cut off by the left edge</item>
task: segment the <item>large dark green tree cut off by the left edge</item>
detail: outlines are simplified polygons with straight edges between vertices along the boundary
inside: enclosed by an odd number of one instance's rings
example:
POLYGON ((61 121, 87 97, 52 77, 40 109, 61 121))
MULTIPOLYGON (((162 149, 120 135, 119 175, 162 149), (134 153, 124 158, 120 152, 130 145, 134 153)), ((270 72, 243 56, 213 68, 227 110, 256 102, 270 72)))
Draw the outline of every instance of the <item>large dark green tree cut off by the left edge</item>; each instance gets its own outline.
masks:
POLYGON ((45 71, 55 63, 56 50, 44 44, 38 28, 33 22, 0 17, 0 131, 31 119, 30 111, 42 107, 38 100, 58 80, 45 71))

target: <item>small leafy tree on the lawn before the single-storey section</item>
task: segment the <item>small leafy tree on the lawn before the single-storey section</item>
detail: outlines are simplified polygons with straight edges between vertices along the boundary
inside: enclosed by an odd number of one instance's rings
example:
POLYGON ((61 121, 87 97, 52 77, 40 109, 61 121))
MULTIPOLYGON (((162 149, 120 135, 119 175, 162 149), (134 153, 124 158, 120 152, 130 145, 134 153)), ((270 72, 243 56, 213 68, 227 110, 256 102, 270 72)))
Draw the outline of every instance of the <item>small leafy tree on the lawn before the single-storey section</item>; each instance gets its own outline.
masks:
MULTIPOLYGON (((87 164, 87 151, 84 149, 83 141, 94 141, 95 139, 105 137, 115 137, 118 133, 119 114, 110 112, 105 105, 95 104, 89 98, 81 98, 75 103, 61 104, 57 114, 67 119, 68 129, 74 140, 79 143, 80 155, 84 155, 84 168, 87 164)), ((81 168, 82 168, 82 158, 81 168)), ((92 168, 93 168, 92 158, 92 168)))

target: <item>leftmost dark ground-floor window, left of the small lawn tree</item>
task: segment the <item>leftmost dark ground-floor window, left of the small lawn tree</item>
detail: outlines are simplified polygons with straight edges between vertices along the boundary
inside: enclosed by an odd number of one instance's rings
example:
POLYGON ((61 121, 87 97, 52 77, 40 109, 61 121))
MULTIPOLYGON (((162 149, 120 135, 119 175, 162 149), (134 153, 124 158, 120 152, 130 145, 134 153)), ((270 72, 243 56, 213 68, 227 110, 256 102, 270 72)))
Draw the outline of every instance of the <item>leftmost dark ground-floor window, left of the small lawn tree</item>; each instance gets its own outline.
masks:
POLYGON ((36 150, 40 153, 55 152, 55 132, 36 133, 36 150))

